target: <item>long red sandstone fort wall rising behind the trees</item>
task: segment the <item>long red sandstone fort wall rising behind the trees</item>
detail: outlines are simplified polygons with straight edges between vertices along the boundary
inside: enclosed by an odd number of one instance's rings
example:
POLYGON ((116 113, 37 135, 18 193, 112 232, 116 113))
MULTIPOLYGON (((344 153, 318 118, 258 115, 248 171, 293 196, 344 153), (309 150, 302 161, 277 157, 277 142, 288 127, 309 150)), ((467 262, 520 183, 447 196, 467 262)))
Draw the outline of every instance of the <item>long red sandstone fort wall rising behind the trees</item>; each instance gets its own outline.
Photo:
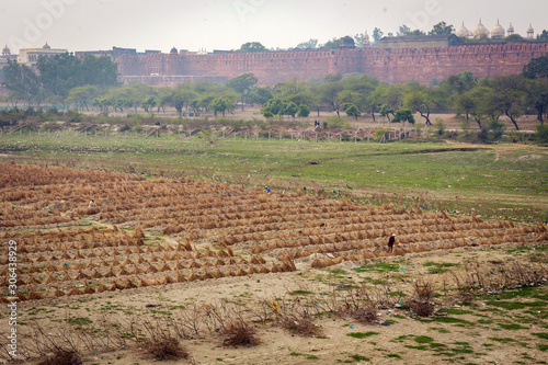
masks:
POLYGON ((207 55, 123 55, 118 70, 124 81, 140 80, 155 85, 189 81, 228 81, 251 72, 260 84, 293 78, 323 79, 329 73, 358 72, 384 82, 429 83, 450 75, 471 71, 494 78, 522 72, 532 58, 548 55, 548 43, 463 45, 437 48, 364 48, 290 50, 269 53, 219 53, 207 55))

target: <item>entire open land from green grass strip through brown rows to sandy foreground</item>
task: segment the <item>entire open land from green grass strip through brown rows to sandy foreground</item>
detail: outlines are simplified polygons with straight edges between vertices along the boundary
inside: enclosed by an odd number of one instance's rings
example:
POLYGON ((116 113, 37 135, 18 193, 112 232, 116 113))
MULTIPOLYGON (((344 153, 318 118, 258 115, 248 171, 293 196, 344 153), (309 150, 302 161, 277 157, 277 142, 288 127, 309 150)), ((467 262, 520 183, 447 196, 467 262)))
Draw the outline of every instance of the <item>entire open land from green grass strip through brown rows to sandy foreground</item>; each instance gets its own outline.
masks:
POLYGON ((0 146, 0 300, 16 252, 24 363, 545 364, 546 149, 0 146))

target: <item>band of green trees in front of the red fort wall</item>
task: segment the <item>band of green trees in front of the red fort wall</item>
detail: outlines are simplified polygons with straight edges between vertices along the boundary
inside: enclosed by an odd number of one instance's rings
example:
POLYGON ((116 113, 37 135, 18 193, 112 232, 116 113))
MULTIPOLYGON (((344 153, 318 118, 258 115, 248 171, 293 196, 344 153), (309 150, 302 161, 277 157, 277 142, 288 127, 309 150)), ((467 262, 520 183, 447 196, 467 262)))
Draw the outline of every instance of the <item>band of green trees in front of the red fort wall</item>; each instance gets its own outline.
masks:
POLYGON ((262 105, 266 118, 284 115, 307 117, 330 106, 339 116, 345 113, 358 118, 379 115, 388 121, 415 123, 420 115, 432 125, 434 112, 454 112, 473 121, 481 129, 491 121, 507 116, 516 129, 525 113, 536 113, 544 123, 548 112, 548 56, 533 59, 522 75, 478 79, 471 72, 449 76, 430 85, 418 82, 387 84, 358 73, 328 75, 323 80, 292 79, 274 85, 258 87, 252 73, 243 73, 226 84, 214 82, 184 83, 155 88, 142 83, 117 83, 116 64, 109 57, 58 55, 41 59, 37 72, 12 62, 4 68, 8 100, 16 105, 42 103, 70 105, 81 110, 94 107, 107 113, 165 113, 173 107, 185 113, 233 113, 238 105, 262 105))

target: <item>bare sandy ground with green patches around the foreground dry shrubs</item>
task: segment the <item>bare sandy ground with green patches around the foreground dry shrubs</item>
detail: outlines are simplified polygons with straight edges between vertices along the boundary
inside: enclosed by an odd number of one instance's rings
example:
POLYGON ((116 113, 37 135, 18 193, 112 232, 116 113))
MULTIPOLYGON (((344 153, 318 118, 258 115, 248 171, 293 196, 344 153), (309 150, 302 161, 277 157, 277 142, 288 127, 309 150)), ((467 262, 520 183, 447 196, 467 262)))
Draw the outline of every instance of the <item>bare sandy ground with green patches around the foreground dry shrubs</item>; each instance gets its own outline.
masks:
MULTIPOLYGON (((19 321, 28 323, 32 318, 46 320, 47 326, 64 326, 68 318, 85 318, 91 323, 106 315, 115 320, 138 320, 144 313, 170 308, 173 316, 184 306, 206 308, 208 305, 249 304, 253 301, 282 303, 294 300, 295 293, 320 293, 361 285, 375 280, 387 281, 390 290, 412 295, 416 281, 432 283, 436 293, 447 280, 447 273, 436 273, 426 263, 458 264, 466 262, 496 265, 517 259, 528 261, 532 252, 544 252, 548 242, 536 243, 530 250, 514 251, 518 243, 496 247, 459 248, 400 256, 373 259, 367 262, 343 262, 327 269, 311 269, 310 260, 296 261, 297 271, 289 273, 253 274, 243 277, 221 277, 191 283, 178 283, 147 288, 125 289, 78 297, 61 297, 21 303, 19 321), (510 252, 509 252, 510 251, 510 252), (364 264, 392 263, 399 269, 388 271, 353 269, 364 264), (425 265, 426 264, 426 265, 425 265), (57 323, 57 324, 56 324, 57 323)), ((543 256, 544 260, 546 255, 543 256)), ((546 287, 537 289, 546 297, 546 287)), ((304 294, 307 295, 307 294, 304 294)), ((463 309, 450 295, 435 299, 436 307, 463 309)), ((529 300, 528 298, 517 300, 529 300)), ((258 324, 261 343, 254 347, 222 346, 219 332, 201 333, 181 341, 192 356, 190 361, 171 361, 172 364, 541 364, 546 360, 546 338, 532 333, 547 333, 545 318, 525 320, 521 311, 506 310, 476 300, 463 313, 449 315, 465 322, 420 321, 408 310, 379 308, 380 321, 390 323, 363 324, 352 318, 322 316, 315 322, 322 331, 319 337, 304 338, 292 334, 275 323, 258 324), (517 329, 504 323, 520 323, 517 329), (470 323, 470 324, 467 324, 470 323), (501 326, 502 324, 502 326, 501 326), (511 329, 512 328, 512 329, 511 329), (362 333, 364 338, 349 334, 362 333), (418 337, 423 337, 424 343, 418 337), (493 340, 494 339, 494 340, 493 340), (506 339, 506 340, 504 340, 506 339), (509 340, 510 339, 510 340, 509 340), (432 345, 437 344, 437 345, 432 345), (421 346, 422 345, 422 346, 421 346), (544 345, 544 347, 543 347, 544 345), (442 347, 443 351, 435 351, 442 347)), ((540 310, 538 310, 540 312, 540 310)), ((534 316, 534 315, 532 315, 534 316)), ((1 331, 7 333, 7 316, 2 313, 1 331)), ((27 324, 19 326, 23 332, 27 324)), ((19 341, 31 341, 20 339, 19 341)), ((128 342, 128 344, 130 344, 128 342)), ((144 365, 157 363, 138 345, 103 353, 87 353, 84 364, 144 365)), ((22 362, 30 363, 30 362, 22 362)))

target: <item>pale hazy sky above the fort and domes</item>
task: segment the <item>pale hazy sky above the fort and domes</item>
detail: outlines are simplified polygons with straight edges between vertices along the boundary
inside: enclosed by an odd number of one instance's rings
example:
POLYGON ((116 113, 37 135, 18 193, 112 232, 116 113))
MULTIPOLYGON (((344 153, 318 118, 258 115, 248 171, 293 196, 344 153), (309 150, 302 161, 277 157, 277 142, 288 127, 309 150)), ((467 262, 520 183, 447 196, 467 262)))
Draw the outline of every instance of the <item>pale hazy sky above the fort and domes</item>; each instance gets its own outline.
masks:
POLYGON ((0 0, 0 43, 20 48, 76 50, 113 46, 158 49, 237 49, 247 42, 267 48, 326 43, 401 24, 430 31, 445 21, 473 30, 512 22, 525 36, 548 30, 548 0, 0 0))

